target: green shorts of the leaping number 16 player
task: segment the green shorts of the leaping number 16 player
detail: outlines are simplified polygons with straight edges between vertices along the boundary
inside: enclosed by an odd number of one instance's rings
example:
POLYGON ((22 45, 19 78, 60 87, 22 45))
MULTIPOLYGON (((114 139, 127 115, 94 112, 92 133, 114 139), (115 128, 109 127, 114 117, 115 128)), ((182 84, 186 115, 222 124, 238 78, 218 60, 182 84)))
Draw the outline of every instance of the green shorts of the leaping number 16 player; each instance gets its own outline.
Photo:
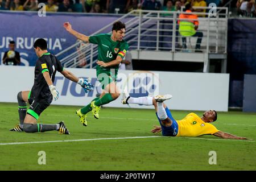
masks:
POLYGON ((118 69, 115 69, 115 72, 110 72, 109 69, 97 69, 96 70, 96 75, 98 81, 100 81, 102 85, 102 89, 106 87, 106 85, 110 84, 113 81, 117 81, 117 72, 118 69))

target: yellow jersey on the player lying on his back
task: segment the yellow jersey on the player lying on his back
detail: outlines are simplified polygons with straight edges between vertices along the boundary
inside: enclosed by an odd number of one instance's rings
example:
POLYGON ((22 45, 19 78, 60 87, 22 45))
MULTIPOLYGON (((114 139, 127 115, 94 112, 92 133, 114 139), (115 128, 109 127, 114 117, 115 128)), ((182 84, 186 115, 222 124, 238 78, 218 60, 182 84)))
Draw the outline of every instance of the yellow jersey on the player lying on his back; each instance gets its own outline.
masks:
POLYGON ((219 131, 212 124, 204 122, 195 113, 189 113, 185 118, 177 120, 177 124, 176 137, 198 137, 200 135, 212 135, 219 131))

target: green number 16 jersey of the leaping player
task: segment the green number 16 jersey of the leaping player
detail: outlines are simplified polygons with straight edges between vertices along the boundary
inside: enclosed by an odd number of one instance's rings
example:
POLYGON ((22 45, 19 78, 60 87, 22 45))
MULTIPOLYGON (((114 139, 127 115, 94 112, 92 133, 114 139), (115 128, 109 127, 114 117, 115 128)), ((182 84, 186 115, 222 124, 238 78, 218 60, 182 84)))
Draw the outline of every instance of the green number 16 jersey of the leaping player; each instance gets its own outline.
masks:
MULTIPOLYGON (((108 63, 117 59, 117 56, 125 57, 125 53, 129 48, 128 43, 125 40, 113 41, 111 39, 112 34, 98 34, 89 37, 89 42, 93 44, 98 44, 98 60, 108 63)), ((113 67, 102 68, 97 65, 96 69, 115 69, 118 70, 119 65, 113 67)))

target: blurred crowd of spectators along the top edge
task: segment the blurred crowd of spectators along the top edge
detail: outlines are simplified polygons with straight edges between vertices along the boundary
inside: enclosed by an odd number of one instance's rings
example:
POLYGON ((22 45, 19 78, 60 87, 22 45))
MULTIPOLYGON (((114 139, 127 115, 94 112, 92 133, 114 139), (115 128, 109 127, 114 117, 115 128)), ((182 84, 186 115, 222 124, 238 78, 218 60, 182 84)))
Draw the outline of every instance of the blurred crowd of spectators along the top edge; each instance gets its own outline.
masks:
MULTIPOLYGON (((36 11, 39 3, 46 4, 48 12, 77 13, 128 13, 131 10, 165 10, 177 11, 181 6, 208 6, 216 3, 224 5, 228 0, 0 0, 0 10, 36 11)), ((245 0, 238 0, 245 1, 245 0)), ((255 0, 246 0, 255 1, 255 0)), ((255 5, 255 2, 254 2, 255 5)))

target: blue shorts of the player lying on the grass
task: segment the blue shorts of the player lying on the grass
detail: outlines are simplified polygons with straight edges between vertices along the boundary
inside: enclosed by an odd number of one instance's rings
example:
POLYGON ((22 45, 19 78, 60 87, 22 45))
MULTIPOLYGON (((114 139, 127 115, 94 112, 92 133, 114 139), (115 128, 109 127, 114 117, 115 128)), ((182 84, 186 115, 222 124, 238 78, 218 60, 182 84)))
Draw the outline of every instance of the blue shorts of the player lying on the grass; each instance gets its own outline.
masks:
MULTIPOLYGON (((158 117, 158 113, 155 113, 156 117, 158 117)), ((168 118, 170 118, 172 120, 172 125, 169 127, 163 126, 161 123, 161 120, 158 117, 158 121, 162 127, 162 135, 163 136, 169 136, 169 137, 175 137, 178 133, 178 125, 177 122, 175 121, 175 119, 172 117, 171 111, 168 109, 168 107, 166 107, 166 114, 168 116, 168 118)))

